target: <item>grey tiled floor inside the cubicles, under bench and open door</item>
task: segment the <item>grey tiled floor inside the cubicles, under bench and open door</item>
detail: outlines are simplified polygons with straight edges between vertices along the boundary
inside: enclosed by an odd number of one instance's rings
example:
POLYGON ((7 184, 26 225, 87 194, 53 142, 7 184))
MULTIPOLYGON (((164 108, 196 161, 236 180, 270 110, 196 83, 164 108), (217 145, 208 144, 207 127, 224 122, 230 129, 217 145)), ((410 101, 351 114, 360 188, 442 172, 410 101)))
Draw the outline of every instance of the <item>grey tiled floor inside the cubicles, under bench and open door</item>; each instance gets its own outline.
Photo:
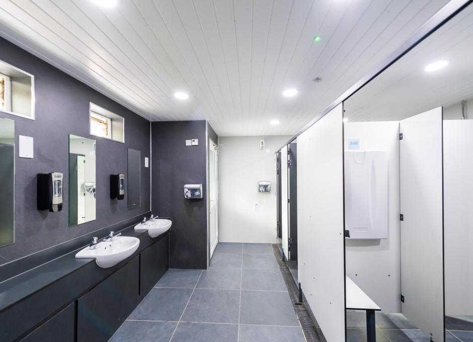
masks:
MULTIPOLYGON (((473 331, 467 331, 467 329, 473 330, 471 317, 446 317, 445 322, 448 329, 446 342, 473 342, 473 331)), ((366 341, 366 313, 364 311, 347 310, 347 341, 366 341)), ((401 313, 377 312, 376 342, 430 342, 430 338, 401 313)))

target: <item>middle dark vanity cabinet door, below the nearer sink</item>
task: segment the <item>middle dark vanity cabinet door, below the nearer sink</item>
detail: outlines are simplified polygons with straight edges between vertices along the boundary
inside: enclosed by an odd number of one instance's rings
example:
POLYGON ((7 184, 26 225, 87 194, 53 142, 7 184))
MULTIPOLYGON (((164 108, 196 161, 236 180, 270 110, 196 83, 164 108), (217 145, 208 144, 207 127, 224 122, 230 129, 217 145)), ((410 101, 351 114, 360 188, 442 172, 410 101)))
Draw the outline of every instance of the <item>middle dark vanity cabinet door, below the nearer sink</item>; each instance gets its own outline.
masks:
POLYGON ((138 304, 139 255, 77 300, 77 341, 107 341, 138 304))

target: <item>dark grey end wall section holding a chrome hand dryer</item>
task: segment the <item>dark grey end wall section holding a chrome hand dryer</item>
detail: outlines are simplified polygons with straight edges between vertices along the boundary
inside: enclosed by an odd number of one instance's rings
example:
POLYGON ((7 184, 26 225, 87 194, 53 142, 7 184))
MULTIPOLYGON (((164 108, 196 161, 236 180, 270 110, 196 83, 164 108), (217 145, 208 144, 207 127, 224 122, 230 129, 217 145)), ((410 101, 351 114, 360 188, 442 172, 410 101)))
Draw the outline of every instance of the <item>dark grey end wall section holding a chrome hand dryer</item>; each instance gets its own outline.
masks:
POLYGON ((206 121, 151 123, 153 214, 171 217, 170 268, 207 268, 206 121), (186 139, 199 139, 186 146, 186 139), (202 184, 203 198, 184 198, 202 184))

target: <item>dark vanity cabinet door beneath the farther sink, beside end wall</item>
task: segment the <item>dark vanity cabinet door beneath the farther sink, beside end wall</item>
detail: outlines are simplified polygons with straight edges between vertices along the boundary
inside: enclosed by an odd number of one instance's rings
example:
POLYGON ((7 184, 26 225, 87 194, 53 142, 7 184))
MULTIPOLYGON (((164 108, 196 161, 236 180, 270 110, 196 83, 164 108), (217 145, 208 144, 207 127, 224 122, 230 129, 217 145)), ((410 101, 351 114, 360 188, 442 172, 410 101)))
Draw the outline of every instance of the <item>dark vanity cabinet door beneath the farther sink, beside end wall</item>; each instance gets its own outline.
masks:
POLYGON ((169 233, 140 254, 140 297, 144 297, 169 268, 169 233))

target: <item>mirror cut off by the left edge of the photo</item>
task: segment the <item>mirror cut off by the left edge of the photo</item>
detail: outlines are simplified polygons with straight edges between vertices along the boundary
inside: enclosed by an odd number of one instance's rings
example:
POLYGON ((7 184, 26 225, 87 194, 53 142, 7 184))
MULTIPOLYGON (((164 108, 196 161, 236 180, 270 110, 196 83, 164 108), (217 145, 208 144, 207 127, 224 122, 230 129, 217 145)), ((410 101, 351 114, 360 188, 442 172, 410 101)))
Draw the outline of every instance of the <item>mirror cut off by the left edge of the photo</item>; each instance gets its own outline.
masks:
POLYGON ((15 121, 0 119, 0 246, 15 242, 15 121))

